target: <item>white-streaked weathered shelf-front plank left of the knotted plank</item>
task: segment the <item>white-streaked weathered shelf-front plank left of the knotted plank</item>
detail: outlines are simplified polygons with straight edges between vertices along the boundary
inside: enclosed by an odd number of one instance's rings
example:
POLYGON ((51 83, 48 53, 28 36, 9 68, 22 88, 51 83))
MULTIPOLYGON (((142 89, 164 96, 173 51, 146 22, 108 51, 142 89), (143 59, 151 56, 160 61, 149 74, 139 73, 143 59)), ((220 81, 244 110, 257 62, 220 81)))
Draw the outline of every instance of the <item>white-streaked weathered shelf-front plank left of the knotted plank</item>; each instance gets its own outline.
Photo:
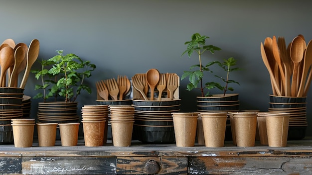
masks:
MULTIPOLYGON (((16 158, 11 158, 11 160, 16 158)), ((19 171, 29 175, 116 174, 116 158, 106 157, 33 157, 20 158, 19 171)), ((8 172, 6 172, 8 173, 8 172)))

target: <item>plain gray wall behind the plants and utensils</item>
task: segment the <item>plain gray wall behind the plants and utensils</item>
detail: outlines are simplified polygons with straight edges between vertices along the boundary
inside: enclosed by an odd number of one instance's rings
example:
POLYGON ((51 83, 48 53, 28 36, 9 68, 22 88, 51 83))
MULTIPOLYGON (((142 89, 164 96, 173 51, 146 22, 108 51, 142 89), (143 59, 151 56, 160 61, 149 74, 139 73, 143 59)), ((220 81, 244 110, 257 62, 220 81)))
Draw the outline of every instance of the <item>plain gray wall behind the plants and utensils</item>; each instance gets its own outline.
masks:
MULTIPOLYGON (((47 59, 64 49, 97 65, 88 83, 117 75, 132 77, 150 68, 179 76, 197 58, 180 57, 185 41, 199 32, 222 51, 205 60, 238 59, 240 72, 232 79, 240 94, 241 109, 268 110, 272 93, 268 71, 260 54, 260 42, 268 36, 284 36, 289 43, 298 34, 312 39, 308 0, 1 0, 0 41, 12 38, 29 44, 40 41, 38 59, 47 59)), ((34 67, 38 67, 35 64, 34 67)), ((25 94, 33 96, 31 76, 25 94)), ((186 91, 180 83, 183 111, 195 111, 198 91, 186 91)), ((216 91, 219 93, 219 91, 216 91)), ((312 93, 308 96, 308 118, 312 122, 312 93)), ((84 93, 79 104, 95 104, 96 93, 84 93)), ((35 116, 38 100, 32 100, 35 116)), ((308 134, 312 128, 308 128, 308 134)), ((311 135, 311 134, 309 134, 311 135)))

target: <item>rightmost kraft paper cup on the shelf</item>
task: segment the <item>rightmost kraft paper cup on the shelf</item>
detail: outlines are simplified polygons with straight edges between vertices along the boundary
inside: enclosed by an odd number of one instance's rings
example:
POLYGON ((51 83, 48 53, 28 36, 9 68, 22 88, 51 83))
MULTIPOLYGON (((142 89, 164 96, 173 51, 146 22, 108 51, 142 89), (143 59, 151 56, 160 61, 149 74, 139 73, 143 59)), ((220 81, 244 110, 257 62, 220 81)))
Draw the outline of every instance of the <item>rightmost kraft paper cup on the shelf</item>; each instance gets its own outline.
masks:
POLYGON ((286 147, 290 113, 264 113, 269 147, 286 147))

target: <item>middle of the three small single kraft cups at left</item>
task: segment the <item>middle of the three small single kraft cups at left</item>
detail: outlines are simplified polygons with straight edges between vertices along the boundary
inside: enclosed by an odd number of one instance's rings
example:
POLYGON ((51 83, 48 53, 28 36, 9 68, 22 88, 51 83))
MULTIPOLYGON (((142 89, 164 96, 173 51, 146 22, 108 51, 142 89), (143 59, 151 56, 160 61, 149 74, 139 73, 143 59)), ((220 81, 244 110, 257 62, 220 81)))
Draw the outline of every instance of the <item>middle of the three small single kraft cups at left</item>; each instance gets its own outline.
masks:
POLYGON ((56 140, 57 123, 37 123, 39 147, 53 147, 56 140))

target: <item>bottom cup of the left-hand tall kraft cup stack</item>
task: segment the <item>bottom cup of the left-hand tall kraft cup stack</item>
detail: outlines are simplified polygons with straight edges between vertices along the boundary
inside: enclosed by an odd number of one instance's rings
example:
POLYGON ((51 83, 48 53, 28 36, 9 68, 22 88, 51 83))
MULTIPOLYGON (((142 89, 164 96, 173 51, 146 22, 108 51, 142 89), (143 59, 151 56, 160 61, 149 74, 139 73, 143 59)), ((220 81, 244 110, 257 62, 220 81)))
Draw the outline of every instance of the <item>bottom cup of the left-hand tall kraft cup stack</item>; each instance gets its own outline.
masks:
POLYGON ((82 121, 86 147, 103 146, 106 121, 82 121))

